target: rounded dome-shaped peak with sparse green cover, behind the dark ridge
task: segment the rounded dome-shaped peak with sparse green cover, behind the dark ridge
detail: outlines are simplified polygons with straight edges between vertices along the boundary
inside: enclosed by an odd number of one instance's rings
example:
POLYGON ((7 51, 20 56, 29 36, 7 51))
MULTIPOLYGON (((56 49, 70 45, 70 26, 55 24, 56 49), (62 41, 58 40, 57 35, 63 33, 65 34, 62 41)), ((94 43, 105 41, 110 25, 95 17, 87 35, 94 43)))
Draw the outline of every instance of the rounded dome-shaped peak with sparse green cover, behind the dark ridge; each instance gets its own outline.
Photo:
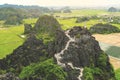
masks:
POLYGON ((44 15, 39 17, 33 29, 37 34, 48 33, 55 36, 56 30, 61 30, 61 27, 54 17, 44 15))

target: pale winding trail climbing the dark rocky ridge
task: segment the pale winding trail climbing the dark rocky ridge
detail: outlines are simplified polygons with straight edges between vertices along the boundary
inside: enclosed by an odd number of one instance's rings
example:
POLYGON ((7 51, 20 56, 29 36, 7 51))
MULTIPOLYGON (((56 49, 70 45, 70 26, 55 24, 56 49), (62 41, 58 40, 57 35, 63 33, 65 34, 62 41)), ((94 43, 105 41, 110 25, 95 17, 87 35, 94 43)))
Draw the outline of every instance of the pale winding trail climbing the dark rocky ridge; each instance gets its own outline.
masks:
MULTIPOLYGON (((55 54, 55 58, 57 60, 57 64, 60 65, 60 66, 62 66, 62 67, 65 67, 66 64, 60 62, 61 59, 62 59, 61 55, 63 55, 64 51, 68 49, 68 47, 69 47, 69 45, 70 45, 71 42, 75 42, 75 38, 70 37, 69 31, 70 30, 67 30, 65 32, 65 35, 69 38, 68 42, 66 43, 65 48, 63 50, 61 50, 59 53, 55 54)), ((79 74, 79 76, 77 78, 78 78, 78 80, 81 80, 81 77, 83 75, 83 70, 84 69, 83 68, 79 68, 79 67, 74 67, 71 62, 67 63, 67 65, 69 65, 72 69, 80 70, 80 74, 79 74)))

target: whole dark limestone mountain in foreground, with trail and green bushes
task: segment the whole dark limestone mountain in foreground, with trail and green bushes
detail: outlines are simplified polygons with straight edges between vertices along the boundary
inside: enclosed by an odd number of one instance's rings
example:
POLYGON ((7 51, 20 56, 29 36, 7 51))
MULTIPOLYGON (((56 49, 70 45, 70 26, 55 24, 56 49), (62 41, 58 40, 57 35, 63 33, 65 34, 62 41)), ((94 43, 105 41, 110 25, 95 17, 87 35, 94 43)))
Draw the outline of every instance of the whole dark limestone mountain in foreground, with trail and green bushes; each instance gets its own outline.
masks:
MULTIPOLYGON (((49 24, 52 25, 51 19, 49 24)), ((43 43, 33 34, 1 59, 0 80, 6 80, 3 76, 10 72, 22 77, 21 80, 116 80, 108 55, 86 28, 76 26, 66 31, 58 28, 53 31, 55 39, 49 43, 43 43), (47 61, 49 59, 53 62, 47 61)), ((19 80, 18 77, 12 79, 19 80)))

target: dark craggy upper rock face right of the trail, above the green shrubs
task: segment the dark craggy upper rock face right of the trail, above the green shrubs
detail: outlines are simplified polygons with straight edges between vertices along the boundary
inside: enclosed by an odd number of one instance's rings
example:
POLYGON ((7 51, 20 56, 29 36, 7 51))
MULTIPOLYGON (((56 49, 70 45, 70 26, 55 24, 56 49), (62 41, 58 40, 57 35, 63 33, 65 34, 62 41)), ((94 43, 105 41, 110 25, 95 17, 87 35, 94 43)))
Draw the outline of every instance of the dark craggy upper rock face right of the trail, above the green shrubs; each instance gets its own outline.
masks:
POLYGON ((74 27, 71 30, 65 31, 65 35, 68 37, 66 43, 59 38, 59 42, 65 43, 65 47, 61 49, 61 51, 63 50, 61 56, 64 63, 68 61, 72 62, 75 66, 84 67, 90 66, 90 59, 93 59, 92 61, 96 65, 97 62, 95 59, 99 57, 102 50, 95 38, 86 29, 74 27))

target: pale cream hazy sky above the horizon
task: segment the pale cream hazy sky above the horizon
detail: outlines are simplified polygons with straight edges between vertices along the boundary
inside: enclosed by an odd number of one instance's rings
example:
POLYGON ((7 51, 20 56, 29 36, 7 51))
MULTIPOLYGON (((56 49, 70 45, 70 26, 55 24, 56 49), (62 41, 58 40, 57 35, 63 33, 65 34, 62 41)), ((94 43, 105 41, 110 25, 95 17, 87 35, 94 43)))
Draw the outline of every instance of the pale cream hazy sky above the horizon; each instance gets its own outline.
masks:
POLYGON ((108 6, 120 5, 120 0, 0 0, 0 4, 39 6, 108 6))

